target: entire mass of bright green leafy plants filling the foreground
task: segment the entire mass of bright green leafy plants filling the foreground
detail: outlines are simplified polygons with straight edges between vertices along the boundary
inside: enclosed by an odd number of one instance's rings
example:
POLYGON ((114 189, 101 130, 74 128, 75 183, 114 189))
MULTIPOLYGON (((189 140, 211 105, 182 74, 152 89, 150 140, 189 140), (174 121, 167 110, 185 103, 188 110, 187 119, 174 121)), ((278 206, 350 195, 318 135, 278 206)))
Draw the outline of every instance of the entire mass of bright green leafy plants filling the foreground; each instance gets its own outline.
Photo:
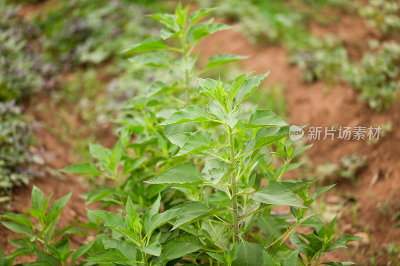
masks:
POLYGON ((140 52, 130 61, 167 68, 175 81, 155 81, 127 102, 115 146, 90 145, 96 164, 78 163, 62 170, 114 183, 83 196, 87 204, 116 207, 115 212, 87 210, 89 221, 81 226, 97 234, 93 244, 70 250, 68 236, 82 231, 73 231, 73 224, 54 231, 70 195, 46 212, 49 199, 42 200, 34 187, 32 209, 27 211, 37 225, 27 216, 2 216, 14 221, 3 222, 7 228, 28 237, 20 240, 23 245, 11 243, 29 250, 2 256, 4 264, 32 253, 40 263, 31 265, 52 266, 65 265, 70 256, 72 263, 86 258, 82 265, 352 264, 319 262, 324 253, 360 239, 337 237, 335 219, 325 226, 308 210, 333 186, 312 193, 315 181, 282 179, 299 166, 292 160, 311 145, 294 150, 287 139, 289 125, 281 118, 269 110, 249 113, 243 108, 268 73, 242 74, 230 84, 197 78, 198 86, 193 87, 194 77, 244 58, 218 54, 205 67, 197 66, 195 44, 230 28, 202 20, 213 9, 188 13, 188 6, 179 5, 174 14, 151 15, 164 25, 160 37, 144 39, 125 52, 140 52), (290 214, 279 212, 279 206, 290 214), (313 231, 296 232, 300 226, 313 231))

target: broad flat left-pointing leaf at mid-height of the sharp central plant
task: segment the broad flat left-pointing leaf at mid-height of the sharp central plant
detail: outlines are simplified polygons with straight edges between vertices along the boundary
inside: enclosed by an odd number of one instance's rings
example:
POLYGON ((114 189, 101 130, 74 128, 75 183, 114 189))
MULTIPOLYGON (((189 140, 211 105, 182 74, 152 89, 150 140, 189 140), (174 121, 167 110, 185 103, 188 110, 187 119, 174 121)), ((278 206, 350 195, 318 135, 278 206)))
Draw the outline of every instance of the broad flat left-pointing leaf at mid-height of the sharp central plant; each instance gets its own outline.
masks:
POLYGON ((191 186, 204 183, 200 170, 190 163, 183 163, 172 166, 156 175, 153 179, 145 181, 148 184, 170 184, 191 186))

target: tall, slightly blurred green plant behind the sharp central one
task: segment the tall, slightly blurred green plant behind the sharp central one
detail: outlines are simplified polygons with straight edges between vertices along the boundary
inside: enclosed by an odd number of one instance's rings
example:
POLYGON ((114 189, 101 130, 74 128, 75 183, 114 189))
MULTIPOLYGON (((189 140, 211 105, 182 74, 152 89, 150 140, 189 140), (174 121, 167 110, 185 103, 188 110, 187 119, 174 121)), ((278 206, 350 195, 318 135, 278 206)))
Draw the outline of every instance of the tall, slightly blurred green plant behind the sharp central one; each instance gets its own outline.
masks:
MULTIPOLYGON (((178 110, 178 106, 184 105, 185 102, 201 102, 195 96, 191 85, 195 75, 245 58, 245 56, 233 54, 214 55, 209 58, 204 68, 198 69, 197 55, 192 55, 195 45, 204 36, 228 29, 230 26, 212 23, 212 19, 196 23, 214 8, 203 8, 190 14, 187 10, 188 7, 182 8, 179 5, 175 14, 150 15, 165 25, 161 29, 160 38, 144 39, 125 51, 126 53, 141 52, 129 58, 133 66, 140 63, 169 69, 172 72, 173 81, 171 84, 156 81, 141 88, 136 92, 135 97, 127 101, 124 116, 118 120, 121 124, 121 128, 118 129, 120 140, 112 151, 100 145, 90 145, 91 156, 99 161, 100 170, 106 173, 93 172, 92 169, 95 167, 93 164, 80 164, 79 168, 71 166, 63 169, 65 172, 98 175, 114 180, 114 188, 98 188, 85 195, 87 203, 101 201, 105 206, 119 205, 123 209, 127 196, 132 191, 136 191, 136 194, 131 195, 130 198, 135 203, 140 203, 143 208, 148 207, 159 192, 168 195, 171 201, 183 201, 166 185, 153 186, 143 184, 142 181, 154 176, 160 170, 184 162, 185 157, 173 157, 177 147, 167 141, 165 136, 195 131, 196 127, 184 125, 161 128, 156 125, 167 118, 171 112, 178 110), (169 46, 166 42, 176 45, 169 46), (130 143, 132 137, 134 141, 130 143), (98 155, 99 153, 102 155, 98 155), (118 164, 123 165, 122 171, 118 172, 118 164)), ((141 73, 141 69, 139 70, 141 73)), ((163 81, 167 80, 168 78, 163 81)), ((178 193, 181 194, 181 192, 178 193)))

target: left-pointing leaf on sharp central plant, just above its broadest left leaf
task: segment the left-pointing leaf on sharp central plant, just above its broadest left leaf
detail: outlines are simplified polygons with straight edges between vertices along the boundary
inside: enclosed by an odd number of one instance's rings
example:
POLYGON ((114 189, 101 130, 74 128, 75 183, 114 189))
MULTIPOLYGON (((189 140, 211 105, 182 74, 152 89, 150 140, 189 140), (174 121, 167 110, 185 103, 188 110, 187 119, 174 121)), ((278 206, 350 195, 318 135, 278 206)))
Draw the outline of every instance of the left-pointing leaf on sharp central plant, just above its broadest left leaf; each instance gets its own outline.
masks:
POLYGON ((174 156, 181 156, 201 151, 213 149, 217 147, 218 141, 211 140, 211 134, 207 131, 197 131, 187 138, 186 142, 180 148, 179 152, 174 156))

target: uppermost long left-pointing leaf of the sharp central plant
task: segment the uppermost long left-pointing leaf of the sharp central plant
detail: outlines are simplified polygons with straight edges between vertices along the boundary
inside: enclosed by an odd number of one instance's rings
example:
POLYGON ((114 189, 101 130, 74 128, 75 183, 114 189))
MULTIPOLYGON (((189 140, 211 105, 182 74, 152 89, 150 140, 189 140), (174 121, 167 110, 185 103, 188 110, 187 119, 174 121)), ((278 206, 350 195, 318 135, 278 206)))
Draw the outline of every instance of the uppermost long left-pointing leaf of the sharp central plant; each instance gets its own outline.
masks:
POLYGON ((211 121, 200 105, 187 106, 173 113, 159 125, 180 124, 185 122, 211 121))

